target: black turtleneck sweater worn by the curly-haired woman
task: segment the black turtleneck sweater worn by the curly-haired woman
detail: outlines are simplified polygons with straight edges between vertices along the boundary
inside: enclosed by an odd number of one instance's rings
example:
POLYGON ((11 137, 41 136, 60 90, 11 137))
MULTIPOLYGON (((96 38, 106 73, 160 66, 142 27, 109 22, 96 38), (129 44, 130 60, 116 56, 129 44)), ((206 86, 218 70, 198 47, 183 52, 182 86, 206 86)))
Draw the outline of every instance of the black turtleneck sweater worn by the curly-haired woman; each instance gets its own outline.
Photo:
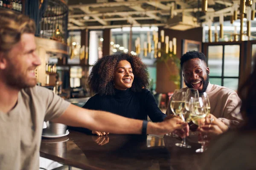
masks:
MULTIPOLYGON (((149 116, 153 122, 162 122, 166 117, 166 114, 158 108, 154 96, 147 89, 142 89, 141 92, 132 92, 130 89, 124 91, 115 89, 113 96, 96 94, 85 103, 83 108, 108 111, 140 120, 147 120, 147 116, 149 116)), ((72 127, 72 129, 88 132, 88 130, 80 127, 72 127)))

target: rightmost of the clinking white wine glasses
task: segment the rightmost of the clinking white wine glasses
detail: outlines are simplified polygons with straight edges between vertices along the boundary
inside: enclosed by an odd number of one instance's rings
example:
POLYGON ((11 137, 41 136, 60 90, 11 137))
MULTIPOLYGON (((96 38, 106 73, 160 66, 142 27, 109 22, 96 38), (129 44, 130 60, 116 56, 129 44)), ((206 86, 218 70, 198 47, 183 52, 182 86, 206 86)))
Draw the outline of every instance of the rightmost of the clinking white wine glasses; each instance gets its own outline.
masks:
MULTIPOLYGON (((204 99, 199 97, 198 101, 195 102, 195 112, 191 114, 191 120, 193 123, 198 125, 199 127, 204 125, 205 117, 208 114, 208 108, 205 105, 204 99)), ((201 153, 206 150, 205 144, 207 136, 202 135, 201 133, 198 135, 198 143, 201 143, 201 148, 197 149, 195 152, 201 153)))

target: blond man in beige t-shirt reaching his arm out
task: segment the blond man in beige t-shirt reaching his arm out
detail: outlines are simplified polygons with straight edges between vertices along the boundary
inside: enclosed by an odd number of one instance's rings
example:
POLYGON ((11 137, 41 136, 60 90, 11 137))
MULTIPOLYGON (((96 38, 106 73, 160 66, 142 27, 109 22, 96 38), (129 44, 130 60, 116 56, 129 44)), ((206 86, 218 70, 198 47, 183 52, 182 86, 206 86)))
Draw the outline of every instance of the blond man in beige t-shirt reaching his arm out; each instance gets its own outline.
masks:
POLYGON ((153 123, 79 108, 47 88, 36 86, 35 23, 0 10, 0 170, 37 170, 43 122, 119 134, 165 134, 188 125, 180 119, 153 123))

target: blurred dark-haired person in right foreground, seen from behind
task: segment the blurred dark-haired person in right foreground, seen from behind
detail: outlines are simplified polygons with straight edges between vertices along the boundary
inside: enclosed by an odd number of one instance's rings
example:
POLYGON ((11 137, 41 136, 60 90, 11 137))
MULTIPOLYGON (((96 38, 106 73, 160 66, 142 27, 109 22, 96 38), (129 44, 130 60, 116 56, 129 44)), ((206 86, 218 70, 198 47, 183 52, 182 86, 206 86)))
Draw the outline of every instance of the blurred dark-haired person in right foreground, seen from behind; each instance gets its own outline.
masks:
POLYGON ((256 64, 238 94, 244 122, 239 129, 229 130, 212 141, 214 145, 208 148, 202 161, 204 170, 256 170, 256 64))

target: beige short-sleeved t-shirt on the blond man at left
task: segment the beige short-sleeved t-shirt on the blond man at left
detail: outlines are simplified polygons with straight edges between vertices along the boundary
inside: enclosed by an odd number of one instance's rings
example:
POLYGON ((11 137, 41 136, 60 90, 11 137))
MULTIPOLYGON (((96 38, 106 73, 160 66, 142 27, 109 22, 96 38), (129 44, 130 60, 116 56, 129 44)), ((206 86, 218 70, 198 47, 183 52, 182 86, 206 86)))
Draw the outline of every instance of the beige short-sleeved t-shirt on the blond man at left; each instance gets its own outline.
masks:
POLYGON ((43 122, 69 105, 47 88, 22 89, 15 108, 0 111, 0 170, 38 170, 43 122))

